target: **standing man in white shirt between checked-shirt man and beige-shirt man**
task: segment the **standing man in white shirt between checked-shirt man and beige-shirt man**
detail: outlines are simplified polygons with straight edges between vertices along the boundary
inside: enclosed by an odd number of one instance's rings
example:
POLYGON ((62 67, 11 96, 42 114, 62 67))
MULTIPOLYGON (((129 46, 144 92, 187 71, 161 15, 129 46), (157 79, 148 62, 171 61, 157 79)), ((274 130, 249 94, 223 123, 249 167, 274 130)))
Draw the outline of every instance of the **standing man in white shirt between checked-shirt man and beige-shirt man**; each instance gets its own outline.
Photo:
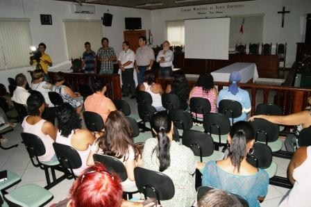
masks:
POLYGON ((131 99, 135 99, 135 82, 133 77, 134 72, 134 62, 135 62, 135 53, 133 50, 129 49, 129 43, 124 41, 122 43, 122 49, 119 58, 118 65, 121 69, 121 77, 123 83, 123 92, 124 97, 127 97, 131 91, 131 99))

